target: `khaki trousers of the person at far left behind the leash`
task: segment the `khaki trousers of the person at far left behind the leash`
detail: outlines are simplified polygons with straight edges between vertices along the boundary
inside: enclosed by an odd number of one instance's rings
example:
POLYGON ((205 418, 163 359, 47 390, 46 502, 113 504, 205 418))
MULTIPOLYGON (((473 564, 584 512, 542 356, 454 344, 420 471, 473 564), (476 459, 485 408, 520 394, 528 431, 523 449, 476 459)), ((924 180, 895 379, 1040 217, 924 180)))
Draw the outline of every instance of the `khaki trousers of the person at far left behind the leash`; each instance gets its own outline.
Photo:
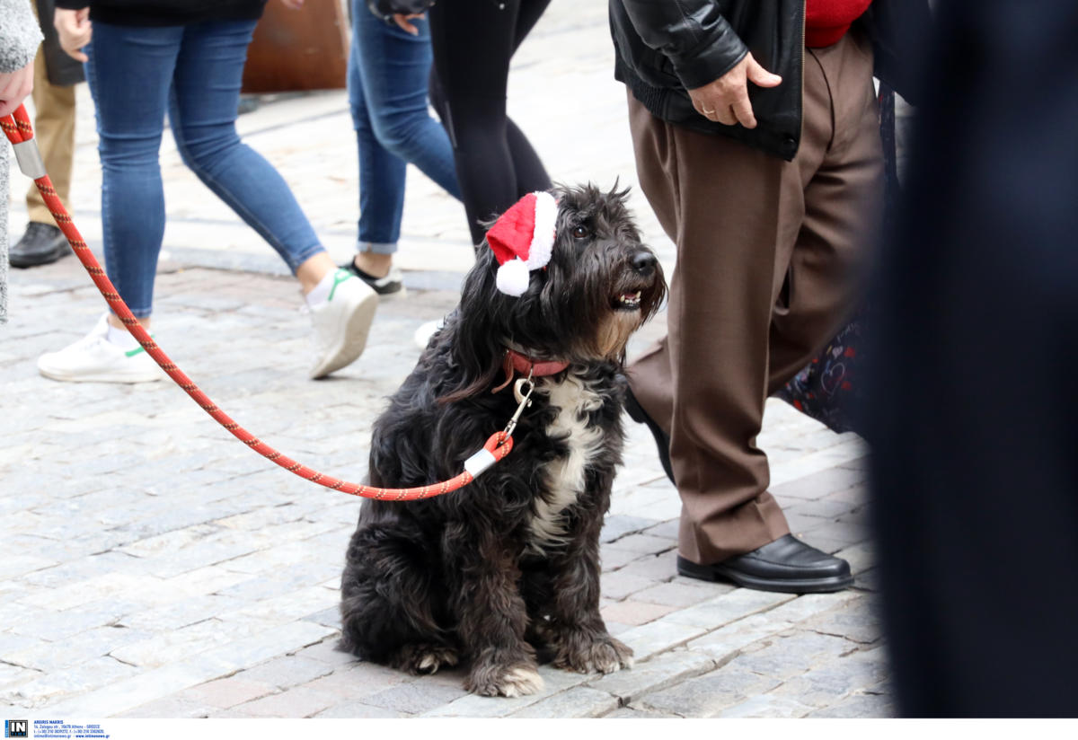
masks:
MULTIPOLYGON (((37 13, 37 3, 33 12, 37 13)), ((38 140, 38 149, 45 162, 56 195, 59 196, 68 210, 71 201, 71 168, 74 158, 74 85, 58 87, 49 82, 45 72, 45 54, 38 50, 33 59, 33 138, 38 140)), ((55 226, 49 208, 45 206, 38 186, 32 182, 26 191, 26 209, 30 221, 55 226)))

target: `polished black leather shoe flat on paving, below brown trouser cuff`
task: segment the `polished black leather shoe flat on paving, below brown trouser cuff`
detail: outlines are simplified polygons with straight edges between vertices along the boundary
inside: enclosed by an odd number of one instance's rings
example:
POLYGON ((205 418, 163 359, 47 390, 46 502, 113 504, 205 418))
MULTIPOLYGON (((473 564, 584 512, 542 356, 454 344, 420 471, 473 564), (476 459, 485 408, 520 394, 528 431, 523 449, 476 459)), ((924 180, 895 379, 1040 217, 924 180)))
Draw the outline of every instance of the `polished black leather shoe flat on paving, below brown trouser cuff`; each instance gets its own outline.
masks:
POLYGON ((733 581, 746 588, 786 594, 841 591, 854 583, 848 562, 792 534, 714 566, 697 566, 678 556, 677 572, 690 578, 733 581))

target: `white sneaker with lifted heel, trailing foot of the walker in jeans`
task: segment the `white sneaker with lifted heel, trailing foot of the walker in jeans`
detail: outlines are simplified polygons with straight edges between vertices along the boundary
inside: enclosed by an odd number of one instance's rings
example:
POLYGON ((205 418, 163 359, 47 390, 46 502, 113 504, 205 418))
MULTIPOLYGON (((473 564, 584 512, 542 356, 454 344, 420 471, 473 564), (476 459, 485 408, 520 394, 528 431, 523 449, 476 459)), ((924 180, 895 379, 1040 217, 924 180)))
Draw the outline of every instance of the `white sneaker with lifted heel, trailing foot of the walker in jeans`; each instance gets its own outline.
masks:
POLYGON ((377 307, 378 294, 370 285, 347 270, 334 274, 329 298, 310 309, 315 326, 312 378, 324 378, 363 353, 377 307))

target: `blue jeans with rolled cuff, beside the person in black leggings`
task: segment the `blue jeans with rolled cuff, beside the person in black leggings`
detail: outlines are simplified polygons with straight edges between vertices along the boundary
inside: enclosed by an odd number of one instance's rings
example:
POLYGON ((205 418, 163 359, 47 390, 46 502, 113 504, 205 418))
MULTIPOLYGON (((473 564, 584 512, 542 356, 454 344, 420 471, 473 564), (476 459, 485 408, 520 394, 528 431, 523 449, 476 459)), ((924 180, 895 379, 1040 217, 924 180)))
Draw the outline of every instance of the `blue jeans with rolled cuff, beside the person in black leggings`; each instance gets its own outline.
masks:
POLYGON ((407 163, 453 197, 460 198, 453 149, 445 129, 427 111, 430 31, 412 23, 412 36, 389 26, 353 0, 348 102, 359 145, 359 248, 397 251, 404 210, 407 163))

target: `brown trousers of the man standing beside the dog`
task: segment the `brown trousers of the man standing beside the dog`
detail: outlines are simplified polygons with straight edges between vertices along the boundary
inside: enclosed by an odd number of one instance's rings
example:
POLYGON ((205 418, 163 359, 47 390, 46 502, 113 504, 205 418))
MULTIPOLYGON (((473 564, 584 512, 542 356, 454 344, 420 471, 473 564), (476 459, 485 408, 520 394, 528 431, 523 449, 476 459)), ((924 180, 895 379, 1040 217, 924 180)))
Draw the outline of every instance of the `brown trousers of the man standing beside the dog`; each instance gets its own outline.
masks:
POLYGON ((709 564, 789 532, 756 437, 856 299, 883 187, 872 51, 853 33, 805 51, 790 163, 628 108, 640 185, 677 245, 667 336, 630 386, 671 434, 680 554, 709 564))

